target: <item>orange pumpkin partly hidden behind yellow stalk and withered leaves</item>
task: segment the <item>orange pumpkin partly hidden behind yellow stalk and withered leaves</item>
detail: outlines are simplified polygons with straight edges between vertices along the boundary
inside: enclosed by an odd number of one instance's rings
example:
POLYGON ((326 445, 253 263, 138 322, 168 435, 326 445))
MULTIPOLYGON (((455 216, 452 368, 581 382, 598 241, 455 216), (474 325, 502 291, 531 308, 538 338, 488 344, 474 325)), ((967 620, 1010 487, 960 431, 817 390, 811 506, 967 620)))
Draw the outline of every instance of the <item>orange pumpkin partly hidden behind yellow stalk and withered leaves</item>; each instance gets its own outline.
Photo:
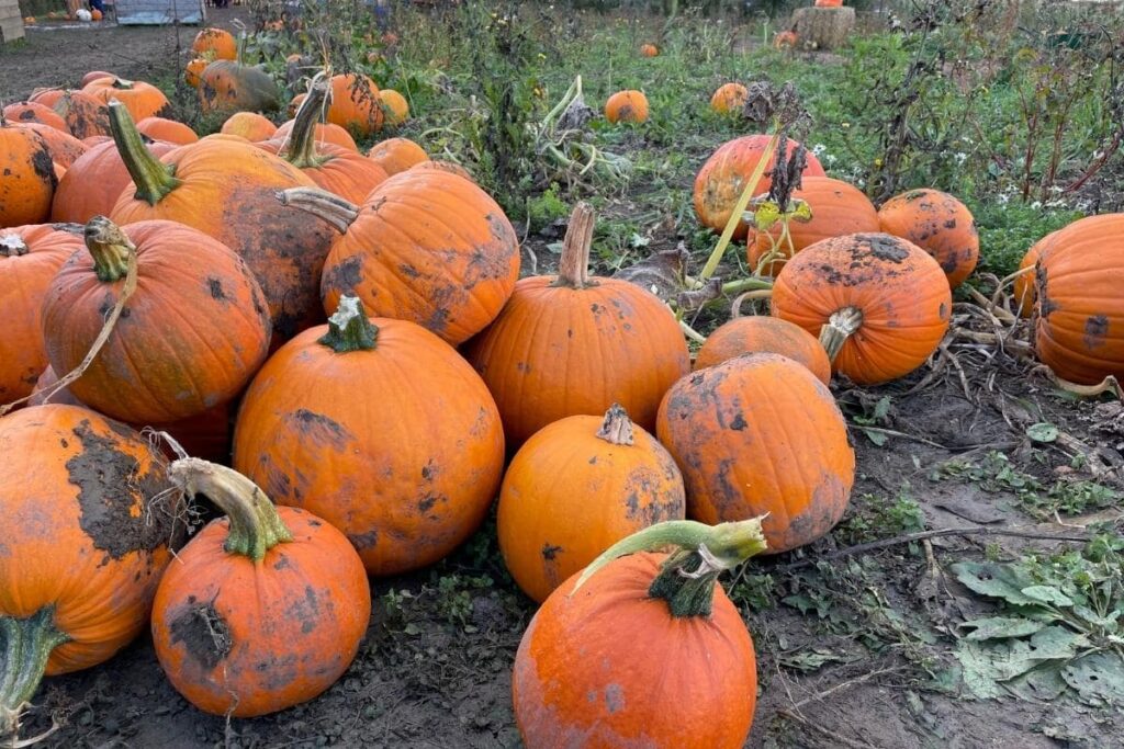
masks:
POLYGON ((805 177, 803 186, 792 191, 792 198, 808 204, 812 220, 789 220, 789 239, 783 241, 779 221, 768 231, 758 231, 756 227, 750 225, 745 241, 753 272, 772 276, 780 273, 788 258, 822 239, 879 231, 874 204, 861 190, 842 180, 827 176, 805 177), (770 257, 773 259, 768 259, 770 257))

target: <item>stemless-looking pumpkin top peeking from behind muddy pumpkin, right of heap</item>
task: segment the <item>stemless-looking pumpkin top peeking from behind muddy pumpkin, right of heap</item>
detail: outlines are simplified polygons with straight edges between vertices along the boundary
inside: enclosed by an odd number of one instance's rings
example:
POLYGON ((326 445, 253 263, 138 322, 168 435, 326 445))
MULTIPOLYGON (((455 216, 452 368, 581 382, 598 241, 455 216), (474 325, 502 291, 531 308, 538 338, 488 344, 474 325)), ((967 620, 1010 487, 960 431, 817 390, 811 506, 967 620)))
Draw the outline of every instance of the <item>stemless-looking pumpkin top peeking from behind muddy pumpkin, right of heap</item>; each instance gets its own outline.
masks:
POLYGON ((720 326, 699 349, 695 371, 743 354, 780 354, 803 364, 825 385, 832 381, 832 363, 816 337, 787 320, 768 316, 738 317, 720 326))

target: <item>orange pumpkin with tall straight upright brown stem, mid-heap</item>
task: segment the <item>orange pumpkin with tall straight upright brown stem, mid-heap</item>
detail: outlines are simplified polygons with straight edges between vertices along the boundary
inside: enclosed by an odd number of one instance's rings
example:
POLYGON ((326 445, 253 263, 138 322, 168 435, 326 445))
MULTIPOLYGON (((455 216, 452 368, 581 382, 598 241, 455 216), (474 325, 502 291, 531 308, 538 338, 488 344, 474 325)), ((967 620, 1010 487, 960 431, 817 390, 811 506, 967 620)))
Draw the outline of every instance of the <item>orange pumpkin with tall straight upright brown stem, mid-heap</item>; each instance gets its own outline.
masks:
POLYGON ((660 399, 690 369, 679 323, 659 298, 589 275, 592 236, 593 211, 579 203, 559 274, 520 280, 468 349, 513 446, 552 421, 601 414, 614 403, 651 431, 660 399))

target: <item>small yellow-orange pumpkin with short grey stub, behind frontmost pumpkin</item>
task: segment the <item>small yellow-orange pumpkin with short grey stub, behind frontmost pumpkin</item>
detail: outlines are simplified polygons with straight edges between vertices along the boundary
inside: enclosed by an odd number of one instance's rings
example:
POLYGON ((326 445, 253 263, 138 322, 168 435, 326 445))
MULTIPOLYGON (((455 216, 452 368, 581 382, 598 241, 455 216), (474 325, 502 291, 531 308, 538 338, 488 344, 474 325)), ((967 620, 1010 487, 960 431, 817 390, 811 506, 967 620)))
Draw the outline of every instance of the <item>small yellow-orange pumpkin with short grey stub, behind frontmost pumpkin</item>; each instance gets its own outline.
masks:
POLYGON ((619 405, 544 427, 511 459, 497 536, 519 587, 542 602, 610 546, 682 520, 683 477, 668 450, 619 405))

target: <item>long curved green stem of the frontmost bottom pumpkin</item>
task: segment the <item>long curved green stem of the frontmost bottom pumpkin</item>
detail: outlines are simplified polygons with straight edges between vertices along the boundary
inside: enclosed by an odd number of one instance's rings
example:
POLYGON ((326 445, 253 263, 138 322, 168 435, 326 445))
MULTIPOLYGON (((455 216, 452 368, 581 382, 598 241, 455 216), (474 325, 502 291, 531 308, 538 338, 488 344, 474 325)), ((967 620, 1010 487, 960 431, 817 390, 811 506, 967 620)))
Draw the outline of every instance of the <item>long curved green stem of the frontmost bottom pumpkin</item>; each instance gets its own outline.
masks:
POLYGON ((668 602, 676 618, 709 616, 718 575, 764 551, 764 517, 707 526, 694 520, 669 520, 645 528, 609 547, 578 578, 570 595, 618 557, 637 551, 678 547, 663 563, 647 590, 668 602))

